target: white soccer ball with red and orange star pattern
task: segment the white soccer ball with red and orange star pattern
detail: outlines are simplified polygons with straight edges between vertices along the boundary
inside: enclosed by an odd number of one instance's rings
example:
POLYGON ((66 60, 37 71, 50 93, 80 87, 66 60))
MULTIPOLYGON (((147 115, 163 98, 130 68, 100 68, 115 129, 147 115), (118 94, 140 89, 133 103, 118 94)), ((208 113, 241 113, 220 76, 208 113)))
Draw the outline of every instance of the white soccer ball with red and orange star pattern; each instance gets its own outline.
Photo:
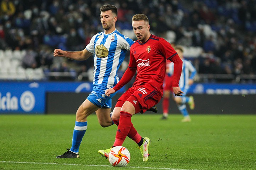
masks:
POLYGON ((108 154, 108 161, 112 166, 126 166, 130 161, 130 152, 123 146, 113 147, 108 154))

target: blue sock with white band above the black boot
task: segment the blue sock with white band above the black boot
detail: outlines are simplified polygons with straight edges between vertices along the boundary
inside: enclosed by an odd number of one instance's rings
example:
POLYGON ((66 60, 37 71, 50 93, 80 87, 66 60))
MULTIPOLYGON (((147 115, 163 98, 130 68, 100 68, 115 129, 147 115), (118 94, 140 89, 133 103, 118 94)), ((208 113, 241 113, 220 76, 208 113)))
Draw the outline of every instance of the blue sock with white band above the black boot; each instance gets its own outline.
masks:
POLYGON ((85 131, 87 129, 87 122, 77 122, 75 123, 75 128, 73 131, 72 147, 71 152, 78 153, 80 144, 84 137, 85 131))

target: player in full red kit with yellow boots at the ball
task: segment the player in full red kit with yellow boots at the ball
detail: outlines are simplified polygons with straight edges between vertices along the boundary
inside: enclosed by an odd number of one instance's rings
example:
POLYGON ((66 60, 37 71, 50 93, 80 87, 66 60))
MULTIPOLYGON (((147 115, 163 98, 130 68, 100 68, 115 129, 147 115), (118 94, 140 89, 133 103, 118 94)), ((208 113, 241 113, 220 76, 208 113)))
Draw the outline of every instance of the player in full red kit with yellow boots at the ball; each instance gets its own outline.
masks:
MULTIPOLYGON (((163 79, 166 72, 166 59, 174 63, 173 93, 182 95, 179 78, 182 71, 182 60, 173 47, 163 38, 150 34, 148 17, 136 14, 132 18, 134 34, 138 40, 130 48, 130 62, 122 79, 115 87, 107 89, 109 96, 128 83, 137 71, 133 86, 118 100, 112 113, 112 120, 118 125, 115 142, 112 147, 122 146, 126 136, 133 139, 139 146, 143 161, 148 161, 150 139, 142 138, 131 122, 132 115, 145 112, 156 105, 163 96, 163 79)), ((110 149, 98 152, 108 157, 110 149)))

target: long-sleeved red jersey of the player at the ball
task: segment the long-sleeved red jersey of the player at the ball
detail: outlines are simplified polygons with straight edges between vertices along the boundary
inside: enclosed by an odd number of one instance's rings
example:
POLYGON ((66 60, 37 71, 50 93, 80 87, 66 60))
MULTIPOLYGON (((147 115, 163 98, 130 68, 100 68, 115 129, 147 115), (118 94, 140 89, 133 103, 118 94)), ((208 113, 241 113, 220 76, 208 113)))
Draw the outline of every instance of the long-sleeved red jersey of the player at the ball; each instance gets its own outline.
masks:
POLYGON ((122 79, 114 87, 115 90, 124 86, 135 74, 137 76, 133 86, 149 83, 155 87, 158 93, 163 94, 163 79, 166 72, 166 59, 177 61, 174 63, 173 87, 179 86, 179 78, 182 71, 182 60, 170 43, 161 37, 151 35, 145 43, 137 40, 130 47, 130 61, 128 69, 122 79), (177 65, 178 67, 176 67, 177 65))

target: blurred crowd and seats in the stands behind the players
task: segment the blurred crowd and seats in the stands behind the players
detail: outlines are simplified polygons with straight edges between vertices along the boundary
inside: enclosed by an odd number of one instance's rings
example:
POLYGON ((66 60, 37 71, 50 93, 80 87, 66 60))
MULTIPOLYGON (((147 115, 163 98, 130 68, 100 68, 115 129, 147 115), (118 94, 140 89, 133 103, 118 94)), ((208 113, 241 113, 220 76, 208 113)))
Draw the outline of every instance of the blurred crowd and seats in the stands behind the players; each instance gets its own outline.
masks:
POLYGON ((199 74, 232 80, 254 75, 248 80, 255 83, 256 0, 2 0, 0 79, 21 74, 21 80, 63 80, 66 75, 91 81, 93 57, 71 61, 54 58, 53 50, 84 49, 102 31, 99 8, 105 4, 118 7, 116 27, 122 34, 136 40, 131 18, 144 13, 151 33, 182 45, 199 74))

